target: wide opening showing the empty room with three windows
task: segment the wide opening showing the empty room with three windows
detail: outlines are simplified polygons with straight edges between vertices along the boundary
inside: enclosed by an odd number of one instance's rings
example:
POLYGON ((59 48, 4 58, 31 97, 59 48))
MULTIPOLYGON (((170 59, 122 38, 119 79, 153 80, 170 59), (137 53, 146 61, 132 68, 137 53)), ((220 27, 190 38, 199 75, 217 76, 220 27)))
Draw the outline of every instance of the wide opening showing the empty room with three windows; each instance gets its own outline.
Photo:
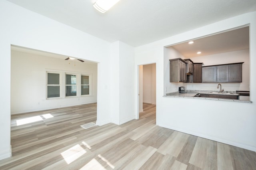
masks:
POLYGON ((97 79, 96 62, 11 45, 12 154, 96 123, 97 79))

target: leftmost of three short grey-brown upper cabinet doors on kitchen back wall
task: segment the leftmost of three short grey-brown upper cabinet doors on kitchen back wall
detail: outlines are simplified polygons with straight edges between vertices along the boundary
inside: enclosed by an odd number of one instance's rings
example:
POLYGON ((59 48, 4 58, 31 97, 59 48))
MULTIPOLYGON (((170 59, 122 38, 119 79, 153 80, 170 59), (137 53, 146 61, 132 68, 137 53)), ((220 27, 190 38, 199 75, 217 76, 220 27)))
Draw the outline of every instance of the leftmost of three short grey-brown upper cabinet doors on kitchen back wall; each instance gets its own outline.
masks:
POLYGON ((216 66, 202 67, 202 82, 216 82, 216 66))

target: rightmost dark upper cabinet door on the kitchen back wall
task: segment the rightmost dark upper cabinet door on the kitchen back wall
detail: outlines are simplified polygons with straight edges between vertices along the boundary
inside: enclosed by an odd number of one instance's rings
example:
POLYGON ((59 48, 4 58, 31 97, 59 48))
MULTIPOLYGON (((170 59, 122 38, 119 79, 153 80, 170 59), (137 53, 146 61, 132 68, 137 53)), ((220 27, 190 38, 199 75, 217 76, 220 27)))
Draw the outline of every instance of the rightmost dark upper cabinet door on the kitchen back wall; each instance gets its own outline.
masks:
POLYGON ((229 82, 242 82, 242 64, 229 65, 229 82))

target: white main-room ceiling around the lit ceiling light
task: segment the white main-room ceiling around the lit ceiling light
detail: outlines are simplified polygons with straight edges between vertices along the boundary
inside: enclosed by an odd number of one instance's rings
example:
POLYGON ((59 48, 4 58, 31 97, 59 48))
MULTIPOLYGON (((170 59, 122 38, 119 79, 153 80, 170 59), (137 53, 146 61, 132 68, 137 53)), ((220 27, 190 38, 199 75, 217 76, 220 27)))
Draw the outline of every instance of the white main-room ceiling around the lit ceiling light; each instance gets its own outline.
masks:
POLYGON ((134 47, 256 11, 255 0, 120 0, 108 12, 95 0, 8 0, 104 39, 134 47))

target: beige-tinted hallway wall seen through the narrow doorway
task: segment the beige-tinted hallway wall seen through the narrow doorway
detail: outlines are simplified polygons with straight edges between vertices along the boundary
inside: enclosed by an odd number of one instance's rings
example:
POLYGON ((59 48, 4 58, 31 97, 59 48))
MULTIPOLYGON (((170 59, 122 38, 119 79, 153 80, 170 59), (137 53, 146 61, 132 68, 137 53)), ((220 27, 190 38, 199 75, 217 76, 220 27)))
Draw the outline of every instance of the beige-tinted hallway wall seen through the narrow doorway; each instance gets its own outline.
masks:
POLYGON ((143 65, 143 103, 156 104, 156 64, 143 65))

